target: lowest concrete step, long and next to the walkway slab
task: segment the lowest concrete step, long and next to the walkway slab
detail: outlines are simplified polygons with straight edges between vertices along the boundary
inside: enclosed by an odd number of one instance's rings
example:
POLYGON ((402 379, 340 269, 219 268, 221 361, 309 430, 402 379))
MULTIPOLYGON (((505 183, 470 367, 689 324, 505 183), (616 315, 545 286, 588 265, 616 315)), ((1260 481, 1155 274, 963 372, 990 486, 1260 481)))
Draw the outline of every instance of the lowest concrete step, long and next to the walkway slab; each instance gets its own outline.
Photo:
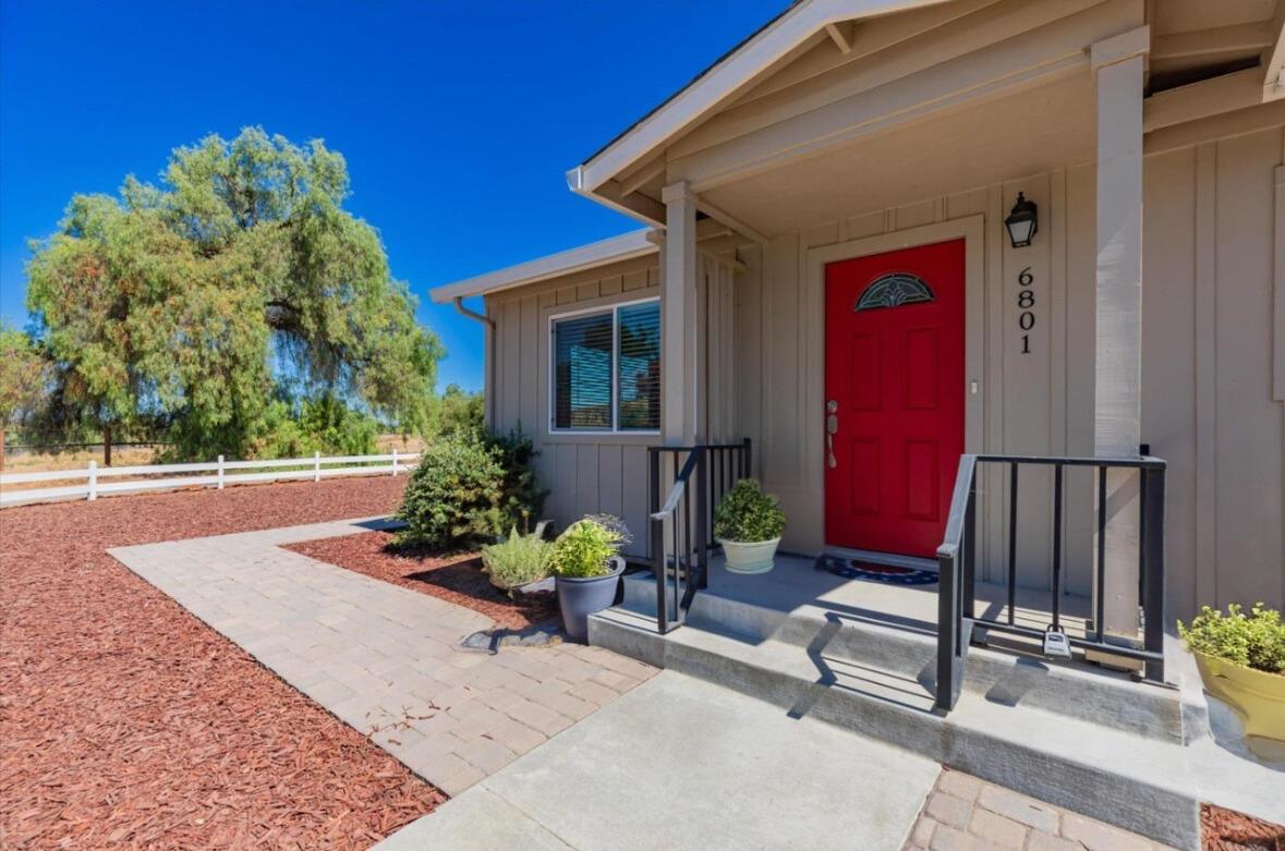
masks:
POLYGON ((627 608, 592 616, 589 636, 792 717, 870 735, 1174 847, 1199 847, 1198 793, 1178 743, 975 692, 942 716, 932 708, 930 684, 917 676, 709 625, 689 622, 662 636, 654 618, 627 608))

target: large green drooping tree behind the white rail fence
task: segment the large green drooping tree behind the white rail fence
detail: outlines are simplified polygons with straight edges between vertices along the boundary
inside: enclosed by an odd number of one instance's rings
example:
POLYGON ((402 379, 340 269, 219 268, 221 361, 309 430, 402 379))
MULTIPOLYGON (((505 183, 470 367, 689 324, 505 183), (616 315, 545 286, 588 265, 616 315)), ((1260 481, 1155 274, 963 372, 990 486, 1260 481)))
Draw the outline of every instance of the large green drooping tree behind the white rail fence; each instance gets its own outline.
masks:
POLYGON ((176 149, 159 185, 75 197, 28 265, 50 422, 251 455, 274 401, 326 396, 424 431, 442 347, 347 194, 339 153, 247 129, 176 149))

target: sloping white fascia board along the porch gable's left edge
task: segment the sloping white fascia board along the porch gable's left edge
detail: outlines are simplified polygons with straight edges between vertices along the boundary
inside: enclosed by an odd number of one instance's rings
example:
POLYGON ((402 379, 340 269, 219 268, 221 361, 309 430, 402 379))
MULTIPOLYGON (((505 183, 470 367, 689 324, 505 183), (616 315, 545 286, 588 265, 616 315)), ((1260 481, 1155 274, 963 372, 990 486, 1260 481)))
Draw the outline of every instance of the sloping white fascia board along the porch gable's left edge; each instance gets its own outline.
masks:
POLYGON ((573 192, 587 194, 639 162, 785 58, 826 24, 905 12, 946 0, 803 0, 589 162, 567 172, 573 192))

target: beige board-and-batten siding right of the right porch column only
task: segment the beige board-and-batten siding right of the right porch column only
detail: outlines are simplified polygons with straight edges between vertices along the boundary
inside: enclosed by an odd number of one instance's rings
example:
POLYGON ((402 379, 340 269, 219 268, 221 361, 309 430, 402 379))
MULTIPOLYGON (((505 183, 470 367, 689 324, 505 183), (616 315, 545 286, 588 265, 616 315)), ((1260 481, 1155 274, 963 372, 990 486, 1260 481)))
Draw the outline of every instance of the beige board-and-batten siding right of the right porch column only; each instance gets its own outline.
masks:
POLYGON ((1169 461, 1176 617, 1285 605, 1285 127, 1236 122, 1148 139, 1142 434, 1169 461))

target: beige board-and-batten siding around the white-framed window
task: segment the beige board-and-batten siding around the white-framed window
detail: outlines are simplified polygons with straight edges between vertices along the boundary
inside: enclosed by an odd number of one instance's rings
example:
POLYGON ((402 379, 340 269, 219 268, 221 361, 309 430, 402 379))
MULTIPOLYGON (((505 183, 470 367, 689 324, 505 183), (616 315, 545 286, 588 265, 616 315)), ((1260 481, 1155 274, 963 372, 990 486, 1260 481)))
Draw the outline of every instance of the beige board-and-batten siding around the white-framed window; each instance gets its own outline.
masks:
MULTIPOLYGON (((627 554, 648 555, 648 446, 658 433, 589 434, 550 428, 549 323, 560 314, 660 296, 658 256, 639 257, 486 297, 495 330, 495 427, 520 428, 538 452, 536 474, 549 490, 544 517, 559 528, 585 514, 609 513, 634 533, 627 554)), ((702 256, 700 285, 708 294, 699 336, 700 393, 707 433, 731 440, 730 390, 732 266, 702 256)))

